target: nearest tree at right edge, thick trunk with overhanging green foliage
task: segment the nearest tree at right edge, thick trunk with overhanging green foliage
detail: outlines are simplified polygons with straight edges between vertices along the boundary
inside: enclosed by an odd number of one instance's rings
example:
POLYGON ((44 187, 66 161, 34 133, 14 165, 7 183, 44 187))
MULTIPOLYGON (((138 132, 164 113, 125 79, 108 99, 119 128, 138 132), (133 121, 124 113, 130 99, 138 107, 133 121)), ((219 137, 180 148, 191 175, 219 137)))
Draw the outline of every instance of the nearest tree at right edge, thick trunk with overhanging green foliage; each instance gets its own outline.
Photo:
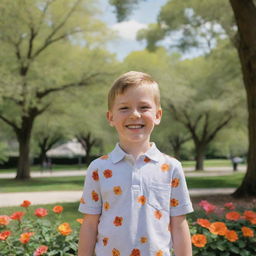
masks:
MULTIPOLYGON (((129 1, 124 1, 129 2, 129 1)), ((235 46, 243 74, 248 109, 248 160, 247 172, 242 184, 234 193, 236 197, 256 195, 256 2, 255 0, 187 0, 168 1, 162 7, 158 17, 159 23, 153 31, 144 31, 141 38, 149 39, 148 45, 170 35, 174 31, 182 31, 183 40, 179 46, 197 46, 200 34, 207 29, 206 42, 214 42, 211 38, 228 36, 235 46), (230 3, 230 5, 229 5, 230 3), (232 14, 233 11, 233 14, 232 14), (203 29, 203 30, 202 30, 203 29), (154 33, 154 30, 157 33, 154 33), (161 33, 159 32, 161 31, 161 33), (151 35, 155 35, 152 37, 151 35), (148 35, 148 36, 147 36, 148 35), (154 42, 152 42, 154 41, 154 42)), ((152 28, 152 26, 151 26, 152 28)), ((214 46, 214 43, 210 45, 214 46)))

